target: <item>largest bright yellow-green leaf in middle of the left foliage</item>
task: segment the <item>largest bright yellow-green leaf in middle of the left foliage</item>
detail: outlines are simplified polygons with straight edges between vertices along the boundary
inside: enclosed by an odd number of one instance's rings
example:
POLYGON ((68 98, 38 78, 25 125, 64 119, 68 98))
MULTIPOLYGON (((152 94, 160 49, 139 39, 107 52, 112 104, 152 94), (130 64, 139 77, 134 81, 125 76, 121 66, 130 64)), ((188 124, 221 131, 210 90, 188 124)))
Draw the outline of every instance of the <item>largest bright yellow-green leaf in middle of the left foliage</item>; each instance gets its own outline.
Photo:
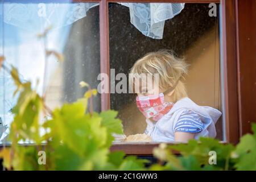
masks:
POLYGON ((51 135, 58 135, 60 140, 80 155, 84 153, 86 139, 90 137, 90 117, 84 112, 81 103, 64 104, 61 109, 53 111, 52 120, 49 121, 51 135))

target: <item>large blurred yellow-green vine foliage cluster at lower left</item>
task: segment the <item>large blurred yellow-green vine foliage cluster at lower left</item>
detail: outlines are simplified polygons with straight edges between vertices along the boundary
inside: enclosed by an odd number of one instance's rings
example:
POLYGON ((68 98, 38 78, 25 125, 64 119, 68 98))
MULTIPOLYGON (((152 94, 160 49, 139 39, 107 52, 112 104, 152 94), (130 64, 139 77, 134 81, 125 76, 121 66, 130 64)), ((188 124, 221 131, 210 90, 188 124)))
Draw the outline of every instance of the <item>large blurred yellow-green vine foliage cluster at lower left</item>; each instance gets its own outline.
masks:
MULTIPOLYGON (((117 170, 144 169, 145 160, 125 158, 123 152, 110 152, 115 134, 123 134, 122 122, 117 119, 117 111, 101 113, 87 111, 88 100, 97 94, 96 89, 88 89, 84 98, 64 104, 51 111, 31 88, 30 82, 21 82, 18 71, 11 70, 19 99, 13 109, 10 148, 0 151, 3 166, 14 170, 117 170), (40 124, 42 115, 50 115, 40 124), (40 135, 40 129, 47 131, 40 135), (32 146, 22 146, 18 142, 31 141, 32 146), (46 164, 39 164, 39 152, 46 152, 46 164)), ((85 82, 81 86, 88 86, 85 82)))

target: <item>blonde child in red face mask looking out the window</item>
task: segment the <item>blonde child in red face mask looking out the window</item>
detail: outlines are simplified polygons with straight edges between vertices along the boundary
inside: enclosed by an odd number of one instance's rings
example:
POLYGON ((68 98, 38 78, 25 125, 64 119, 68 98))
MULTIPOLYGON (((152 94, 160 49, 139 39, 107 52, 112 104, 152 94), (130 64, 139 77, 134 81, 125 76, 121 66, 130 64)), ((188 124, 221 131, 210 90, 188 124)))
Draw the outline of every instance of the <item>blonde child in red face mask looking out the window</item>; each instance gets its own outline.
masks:
POLYGON ((138 79, 143 82, 139 75, 152 76, 152 80, 147 79, 147 84, 139 85, 139 92, 135 89, 135 93, 137 106, 146 117, 144 133, 155 142, 187 142, 193 138, 216 137, 214 124, 221 112, 199 106, 187 97, 181 81, 187 69, 184 60, 165 50, 147 53, 131 68, 129 79, 133 89, 138 86, 138 79), (155 74, 158 74, 159 84, 152 88, 148 81, 156 83, 155 74))

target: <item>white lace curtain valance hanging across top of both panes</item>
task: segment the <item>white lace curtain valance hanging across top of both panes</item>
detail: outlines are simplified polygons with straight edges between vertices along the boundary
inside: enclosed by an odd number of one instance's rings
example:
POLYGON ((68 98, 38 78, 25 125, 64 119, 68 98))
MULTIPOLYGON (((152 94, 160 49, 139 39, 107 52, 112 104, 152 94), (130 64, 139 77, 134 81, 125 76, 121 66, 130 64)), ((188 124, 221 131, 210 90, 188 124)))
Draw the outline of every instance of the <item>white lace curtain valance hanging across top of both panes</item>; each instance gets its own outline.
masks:
MULTIPOLYGON (((131 23, 153 39, 162 39, 165 20, 184 9, 184 3, 120 4, 129 7, 131 23)), ((84 18, 94 6, 98 3, 5 3, 4 21, 28 31, 44 30, 50 24, 57 28, 84 18)))

